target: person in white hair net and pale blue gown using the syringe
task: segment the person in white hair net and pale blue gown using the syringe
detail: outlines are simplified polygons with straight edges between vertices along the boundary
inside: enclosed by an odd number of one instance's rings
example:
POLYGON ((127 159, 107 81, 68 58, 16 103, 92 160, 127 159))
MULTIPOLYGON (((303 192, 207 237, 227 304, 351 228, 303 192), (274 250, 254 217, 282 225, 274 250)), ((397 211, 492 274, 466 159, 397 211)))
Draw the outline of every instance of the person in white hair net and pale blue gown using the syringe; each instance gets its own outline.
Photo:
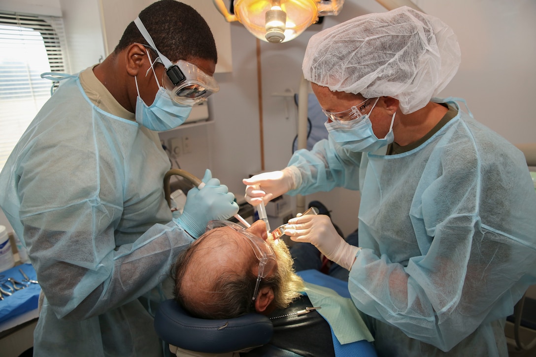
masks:
POLYGON ((293 218, 285 233, 349 270, 381 356, 507 356, 505 318, 536 282, 536 194, 523 154, 463 100, 432 99, 459 63, 452 30, 407 7, 312 36, 303 73, 329 138, 244 180, 254 205, 361 191, 360 247, 322 215, 293 218))

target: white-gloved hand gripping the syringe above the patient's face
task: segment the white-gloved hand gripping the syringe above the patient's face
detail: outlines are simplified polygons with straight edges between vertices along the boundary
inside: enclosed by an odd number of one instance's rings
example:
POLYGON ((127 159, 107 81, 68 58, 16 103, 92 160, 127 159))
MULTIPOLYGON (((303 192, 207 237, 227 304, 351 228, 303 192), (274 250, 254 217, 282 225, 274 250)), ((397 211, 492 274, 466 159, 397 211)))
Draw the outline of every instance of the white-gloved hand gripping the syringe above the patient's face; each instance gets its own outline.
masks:
POLYGON ((265 172, 244 178, 242 182, 245 188, 245 200, 253 206, 260 204, 262 200, 268 203, 272 198, 286 194, 296 188, 295 177, 288 167, 281 171, 265 172))

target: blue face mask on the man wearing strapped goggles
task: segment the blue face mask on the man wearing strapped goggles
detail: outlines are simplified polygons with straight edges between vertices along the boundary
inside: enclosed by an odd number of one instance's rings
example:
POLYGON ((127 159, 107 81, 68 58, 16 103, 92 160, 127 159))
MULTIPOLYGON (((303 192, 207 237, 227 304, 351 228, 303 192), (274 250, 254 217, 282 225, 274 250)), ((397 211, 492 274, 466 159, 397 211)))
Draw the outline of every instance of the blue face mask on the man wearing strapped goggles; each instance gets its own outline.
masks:
MULTIPOLYGON (((147 55, 149 55, 148 52, 147 55)), ((142 97, 139 96, 138 79, 136 77, 134 79, 136 81, 136 90, 138 91, 136 121, 140 125, 154 131, 166 131, 175 129, 186 121, 192 111, 192 107, 174 102, 164 87, 158 83, 156 73, 154 73, 154 79, 160 88, 150 106, 147 106, 142 97)))

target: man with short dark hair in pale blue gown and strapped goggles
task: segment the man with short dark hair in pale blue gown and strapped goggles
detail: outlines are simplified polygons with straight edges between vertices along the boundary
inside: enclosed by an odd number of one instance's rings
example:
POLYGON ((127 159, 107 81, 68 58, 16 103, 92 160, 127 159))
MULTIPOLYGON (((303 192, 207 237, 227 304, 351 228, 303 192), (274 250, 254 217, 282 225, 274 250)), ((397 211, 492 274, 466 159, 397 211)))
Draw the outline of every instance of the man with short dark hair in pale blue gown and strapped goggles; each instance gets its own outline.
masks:
POLYGON ((161 282, 207 222, 238 211, 209 170, 179 217, 163 195, 170 164, 155 131, 217 91, 216 62, 195 10, 155 2, 102 63, 61 80, 14 148, 0 206, 44 293, 34 355, 162 355, 150 302, 166 298, 161 282))

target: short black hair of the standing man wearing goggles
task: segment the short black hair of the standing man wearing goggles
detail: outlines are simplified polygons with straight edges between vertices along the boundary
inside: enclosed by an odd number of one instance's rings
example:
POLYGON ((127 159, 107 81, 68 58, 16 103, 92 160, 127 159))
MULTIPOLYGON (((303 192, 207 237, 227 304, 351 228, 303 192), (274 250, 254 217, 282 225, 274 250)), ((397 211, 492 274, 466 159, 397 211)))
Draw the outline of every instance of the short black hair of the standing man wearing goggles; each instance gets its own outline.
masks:
MULTIPOLYGON (((160 0, 139 13, 158 50, 176 62, 191 58, 218 62, 214 36, 205 19, 191 6, 175 0, 160 0)), ((125 29, 114 53, 132 43, 148 44, 132 21, 125 29)))

